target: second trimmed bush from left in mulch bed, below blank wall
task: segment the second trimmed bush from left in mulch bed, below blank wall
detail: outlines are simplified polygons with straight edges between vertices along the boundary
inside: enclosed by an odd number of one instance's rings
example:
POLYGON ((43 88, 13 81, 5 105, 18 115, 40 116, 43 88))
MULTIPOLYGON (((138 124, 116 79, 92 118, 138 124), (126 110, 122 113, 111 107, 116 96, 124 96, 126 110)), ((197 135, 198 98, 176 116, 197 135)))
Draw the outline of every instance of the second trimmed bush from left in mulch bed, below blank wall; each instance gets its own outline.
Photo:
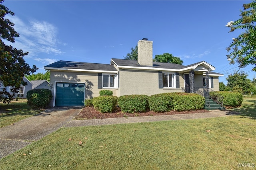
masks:
POLYGON ((141 113, 148 109, 148 98, 146 95, 126 95, 120 96, 117 102, 124 113, 141 113))

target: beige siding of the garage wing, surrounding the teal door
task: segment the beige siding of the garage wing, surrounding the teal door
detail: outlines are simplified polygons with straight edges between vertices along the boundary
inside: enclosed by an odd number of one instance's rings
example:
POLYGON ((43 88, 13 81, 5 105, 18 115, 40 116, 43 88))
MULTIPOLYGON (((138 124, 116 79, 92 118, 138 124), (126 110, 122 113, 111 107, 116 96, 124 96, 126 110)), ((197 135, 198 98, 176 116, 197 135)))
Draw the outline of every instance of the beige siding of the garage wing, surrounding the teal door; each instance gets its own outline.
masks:
MULTIPOLYGON (((64 72, 64 71, 53 71, 50 74, 50 85, 53 84, 53 88, 50 90, 54 95, 54 90, 56 89, 56 82, 79 82, 85 83, 85 99, 95 98, 100 96, 100 90, 111 90, 113 95, 116 96, 115 88, 98 88, 98 73, 90 72, 64 72), (88 88, 87 88, 88 86, 88 88)), ((53 100, 50 105, 53 105, 53 100)))

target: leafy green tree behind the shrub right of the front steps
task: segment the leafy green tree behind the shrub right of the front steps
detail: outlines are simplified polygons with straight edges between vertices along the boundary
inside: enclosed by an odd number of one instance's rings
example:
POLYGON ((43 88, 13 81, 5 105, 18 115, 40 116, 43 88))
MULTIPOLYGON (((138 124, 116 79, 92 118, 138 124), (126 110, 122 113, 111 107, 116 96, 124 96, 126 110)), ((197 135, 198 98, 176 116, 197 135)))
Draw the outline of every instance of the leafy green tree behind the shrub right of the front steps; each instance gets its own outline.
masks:
POLYGON ((256 90, 251 80, 247 78, 248 74, 243 71, 234 71, 234 74, 230 74, 226 77, 227 88, 232 89, 234 92, 240 92, 242 94, 250 94, 256 90))

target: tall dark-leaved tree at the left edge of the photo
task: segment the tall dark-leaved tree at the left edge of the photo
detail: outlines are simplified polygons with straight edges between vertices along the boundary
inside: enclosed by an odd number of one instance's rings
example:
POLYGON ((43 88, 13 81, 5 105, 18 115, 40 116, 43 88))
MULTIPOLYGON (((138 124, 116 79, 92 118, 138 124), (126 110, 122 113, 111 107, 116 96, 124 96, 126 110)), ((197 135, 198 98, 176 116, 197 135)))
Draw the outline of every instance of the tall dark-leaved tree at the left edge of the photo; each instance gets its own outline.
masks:
MULTIPOLYGON (((23 52, 21 49, 13 48, 11 45, 6 45, 2 39, 10 41, 11 43, 15 42, 15 38, 20 35, 14 30, 14 23, 6 19, 6 14, 14 16, 14 13, 2 5, 4 1, 0 0, 1 8, 1 86, 10 86, 10 92, 6 91, 6 88, 1 91, 1 101, 4 103, 10 103, 14 100, 15 94, 18 93, 20 85, 26 85, 24 82, 23 76, 25 74, 30 74, 36 72, 38 68, 33 65, 32 68, 25 62, 23 57, 28 55, 28 52, 23 52)), ((16 98, 17 99, 17 98, 16 98)))

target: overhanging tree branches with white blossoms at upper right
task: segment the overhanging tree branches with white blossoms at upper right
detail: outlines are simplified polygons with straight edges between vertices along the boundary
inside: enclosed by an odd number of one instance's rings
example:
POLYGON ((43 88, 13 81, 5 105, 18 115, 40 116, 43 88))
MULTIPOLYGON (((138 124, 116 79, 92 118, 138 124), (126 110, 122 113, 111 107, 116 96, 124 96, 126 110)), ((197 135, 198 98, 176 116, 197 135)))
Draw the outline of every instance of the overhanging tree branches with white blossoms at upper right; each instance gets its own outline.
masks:
POLYGON ((230 64, 238 63, 240 68, 248 64, 254 65, 252 70, 256 71, 256 1, 243 5, 244 10, 240 11, 242 18, 237 21, 230 21, 226 27, 230 27, 229 32, 236 29, 243 29, 237 38, 233 38, 232 43, 226 48, 230 64))

